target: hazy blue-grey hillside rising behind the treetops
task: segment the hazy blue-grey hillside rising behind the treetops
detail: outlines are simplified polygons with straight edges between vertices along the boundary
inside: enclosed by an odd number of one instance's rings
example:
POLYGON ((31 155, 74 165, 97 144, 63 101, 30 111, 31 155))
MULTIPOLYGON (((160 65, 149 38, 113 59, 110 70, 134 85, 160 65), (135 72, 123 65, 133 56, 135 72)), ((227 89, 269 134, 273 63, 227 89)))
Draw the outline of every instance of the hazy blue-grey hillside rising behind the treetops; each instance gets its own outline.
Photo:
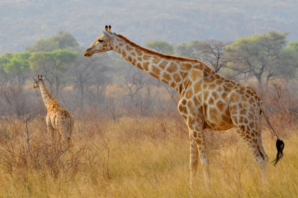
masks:
POLYGON ((298 41, 297 0, 1 0, 0 54, 69 31, 87 47, 105 24, 137 44, 213 38, 234 41, 269 30, 298 41))

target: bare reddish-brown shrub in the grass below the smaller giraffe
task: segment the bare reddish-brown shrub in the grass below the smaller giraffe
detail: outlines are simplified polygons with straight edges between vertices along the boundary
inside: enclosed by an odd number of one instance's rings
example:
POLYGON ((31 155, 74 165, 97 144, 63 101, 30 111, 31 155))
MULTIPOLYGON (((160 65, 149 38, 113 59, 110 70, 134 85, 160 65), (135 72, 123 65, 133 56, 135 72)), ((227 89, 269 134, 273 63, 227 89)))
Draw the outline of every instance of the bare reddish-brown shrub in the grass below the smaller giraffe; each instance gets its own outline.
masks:
POLYGON ((49 142, 32 137, 30 154, 27 145, 7 141, 0 154, 0 166, 11 175, 29 176, 31 171, 49 172, 53 177, 74 177, 84 164, 86 146, 49 142))

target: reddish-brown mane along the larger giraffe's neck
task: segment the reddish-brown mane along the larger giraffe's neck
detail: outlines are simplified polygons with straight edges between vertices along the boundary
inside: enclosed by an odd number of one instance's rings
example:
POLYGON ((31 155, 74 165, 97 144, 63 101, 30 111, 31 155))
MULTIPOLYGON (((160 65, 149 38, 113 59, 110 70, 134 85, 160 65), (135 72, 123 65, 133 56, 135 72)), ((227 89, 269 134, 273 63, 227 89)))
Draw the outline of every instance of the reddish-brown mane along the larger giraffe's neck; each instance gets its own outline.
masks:
POLYGON ((123 39, 124 41, 128 42, 129 44, 131 44, 133 47, 136 47, 148 54, 151 54, 151 55, 157 55, 157 56, 160 56, 162 58, 168 58, 168 59, 173 59, 173 60, 178 60, 178 61, 195 61, 195 62, 199 62, 201 64, 204 64, 203 62, 197 60, 197 59, 193 59, 193 58, 185 58, 185 57, 181 57, 181 56, 173 56, 173 55, 165 55, 165 54, 162 54, 160 52, 155 52, 155 51, 152 51, 150 49, 147 49, 145 47, 141 47, 139 46, 138 44, 128 40, 128 38, 126 38, 125 36, 121 35, 121 34, 116 34, 119 38, 123 39))

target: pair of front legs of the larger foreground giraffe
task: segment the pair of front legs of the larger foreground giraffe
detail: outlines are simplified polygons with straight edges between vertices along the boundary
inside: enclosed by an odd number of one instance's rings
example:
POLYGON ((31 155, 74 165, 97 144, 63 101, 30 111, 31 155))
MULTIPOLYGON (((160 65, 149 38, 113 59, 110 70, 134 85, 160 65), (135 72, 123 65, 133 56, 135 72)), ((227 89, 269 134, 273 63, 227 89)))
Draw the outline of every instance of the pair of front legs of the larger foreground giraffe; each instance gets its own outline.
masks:
MULTIPOLYGON (((204 171, 205 184, 207 188, 210 185, 210 173, 209 173, 209 158, 207 154, 206 142, 203 133, 203 120, 201 117, 197 116, 196 118, 191 117, 190 115, 187 117, 187 125, 190 129, 190 171, 191 171, 191 180, 195 176, 196 167, 198 166, 198 153, 200 155, 201 166, 204 171), (196 146, 197 151, 193 149, 193 146, 196 146), (197 153, 198 152, 198 153, 197 153)), ((191 181, 192 182, 192 181, 191 181)))

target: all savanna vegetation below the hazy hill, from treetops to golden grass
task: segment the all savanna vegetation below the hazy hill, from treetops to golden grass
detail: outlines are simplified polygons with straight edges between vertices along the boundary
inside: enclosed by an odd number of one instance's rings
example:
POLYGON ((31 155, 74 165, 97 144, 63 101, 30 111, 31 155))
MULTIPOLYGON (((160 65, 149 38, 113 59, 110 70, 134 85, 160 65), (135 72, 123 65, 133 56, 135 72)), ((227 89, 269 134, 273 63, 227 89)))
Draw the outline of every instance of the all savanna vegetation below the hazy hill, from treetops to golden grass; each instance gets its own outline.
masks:
MULTIPOLYGON (((200 59, 253 86, 285 142, 285 156, 275 167, 268 164, 263 185, 234 129, 206 130, 209 190, 200 167, 190 190, 188 130, 176 107, 179 96, 166 84, 113 52, 83 57, 85 48, 64 31, 0 55, 0 197, 297 197, 298 44, 287 36, 270 31, 235 42, 145 44, 200 59), (37 75, 75 118, 70 145, 49 138, 46 108, 32 89, 37 75)), ((269 160, 275 141, 264 122, 269 160)))

